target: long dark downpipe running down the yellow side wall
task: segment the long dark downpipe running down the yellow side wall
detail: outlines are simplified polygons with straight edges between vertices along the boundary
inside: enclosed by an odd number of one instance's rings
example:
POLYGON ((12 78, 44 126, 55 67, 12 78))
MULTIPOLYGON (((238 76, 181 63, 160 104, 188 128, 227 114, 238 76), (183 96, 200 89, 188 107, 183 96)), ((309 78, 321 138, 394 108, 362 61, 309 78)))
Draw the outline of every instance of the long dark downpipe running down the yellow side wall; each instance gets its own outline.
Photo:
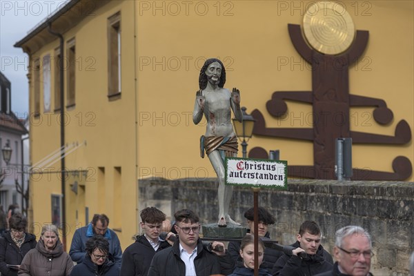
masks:
POLYGON ((59 32, 52 31, 52 22, 48 22, 48 32, 59 37, 59 78, 60 78, 60 130, 61 130, 61 193, 62 193, 62 217, 61 217, 61 230, 62 230, 62 244, 63 250, 66 250, 66 176, 65 176, 65 124, 63 122, 63 108, 65 108, 65 95, 64 95, 64 86, 63 86, 63 36, 59 32))

